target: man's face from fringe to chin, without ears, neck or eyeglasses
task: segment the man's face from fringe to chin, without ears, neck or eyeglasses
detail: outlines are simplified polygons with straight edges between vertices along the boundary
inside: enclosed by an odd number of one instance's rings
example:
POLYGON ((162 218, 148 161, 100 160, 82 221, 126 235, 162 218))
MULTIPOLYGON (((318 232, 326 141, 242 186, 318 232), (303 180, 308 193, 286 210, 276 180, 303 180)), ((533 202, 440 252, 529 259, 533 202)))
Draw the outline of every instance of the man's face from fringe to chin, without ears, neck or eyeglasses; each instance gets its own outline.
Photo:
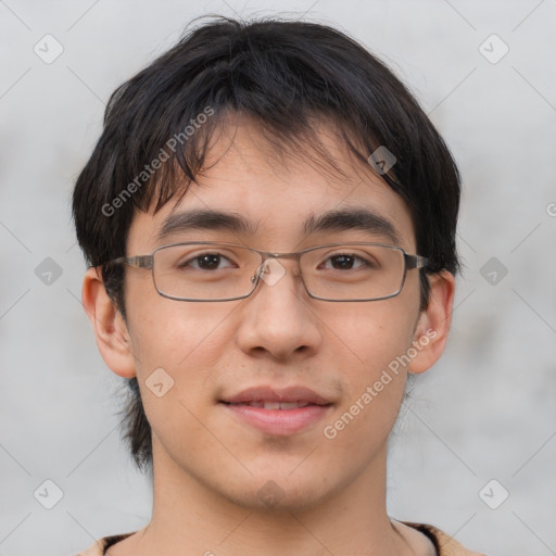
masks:
MULTIPOLYGON (((379 230, 358 227, 304 231, 309 218, 350 210, 388 220, 399 238, 395 244, 415 253, 402 199, 370 169, 355 170, 353 159, 331 137, 323 135, 323 140, 346 176, 302 155, 279 162, 252 123, 238 128, 231 147, 223 134, 213 150, 218 154, 213 162, 218 160, 200 185, 192 185, 178 204, 136 215, 128 255, 180 241, 232 242, 271 252, 336 242, 394 244, 379 230), (164 222, 193 210, 241 216, 256 232, 177 226, 161 243, 164 222)), ((388 371, 390 381, 383 372, 419 340, 419 280, 418 271, 409 270, 402 292, 388 300, 326 302, 308 296, 294 260, 280 264, 287 273, 276 283, 261 281, 244 300, 210 303, 165 299, 150 271, 128 267, 127 330, 152 427, 155 475, 177 473, 250 507, 271 505, 274 497, 285 507, 301 508, 357 480, 383 481, 375 475, 403 399, 406 369, 388 371), (156 387, 165 391, 162 396, 146 386, 155 369, 164 369, 159 378, 167 374, 174 380, 167 391, 167 386, 156 387), (377 391, 374 384, 381 380, 377 391), (276 402, 276 396, 299 394, 319 402, 305 408, 245 409, 249 389, 263 389, 263 394, 252 391, 248 397, 274 395, 276 402)))

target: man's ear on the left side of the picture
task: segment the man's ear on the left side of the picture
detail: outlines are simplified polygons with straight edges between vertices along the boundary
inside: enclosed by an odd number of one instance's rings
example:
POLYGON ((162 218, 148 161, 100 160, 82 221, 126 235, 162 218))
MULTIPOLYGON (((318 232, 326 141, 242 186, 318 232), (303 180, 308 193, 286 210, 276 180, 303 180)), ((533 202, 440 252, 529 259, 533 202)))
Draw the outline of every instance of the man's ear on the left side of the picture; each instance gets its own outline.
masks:
POLYGON ((122 314, 106 293, 100 268, 91 267, 87 270, 81 300, 104 363, 119 377, 135 377, 129 332, 122 314))

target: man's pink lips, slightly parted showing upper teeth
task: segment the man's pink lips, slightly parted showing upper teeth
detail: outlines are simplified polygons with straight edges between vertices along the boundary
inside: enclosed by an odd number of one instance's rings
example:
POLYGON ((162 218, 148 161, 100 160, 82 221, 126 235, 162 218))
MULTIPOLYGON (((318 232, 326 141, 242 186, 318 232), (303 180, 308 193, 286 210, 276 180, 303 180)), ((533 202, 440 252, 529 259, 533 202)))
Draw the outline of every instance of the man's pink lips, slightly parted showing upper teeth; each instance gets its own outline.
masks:
POLYGON ((304 387, 256 387, 220 400, 235 419, 268 435, 291 435, 324 419, 332 402, 304 387))

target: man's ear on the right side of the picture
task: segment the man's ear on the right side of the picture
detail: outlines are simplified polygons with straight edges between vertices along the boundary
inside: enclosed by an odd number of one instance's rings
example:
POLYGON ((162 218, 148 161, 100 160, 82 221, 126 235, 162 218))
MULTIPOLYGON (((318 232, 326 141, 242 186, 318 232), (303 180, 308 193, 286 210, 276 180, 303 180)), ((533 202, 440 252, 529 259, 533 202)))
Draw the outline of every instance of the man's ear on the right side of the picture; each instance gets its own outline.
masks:
POLYGON ((430 298, 427 308, 419 315, 415 327, 413 348, 417 352, 407 370, 424 372, 437 363, 446 346, 452 308, 454 304, 455 278, 442 270, 429 276, 430 298))

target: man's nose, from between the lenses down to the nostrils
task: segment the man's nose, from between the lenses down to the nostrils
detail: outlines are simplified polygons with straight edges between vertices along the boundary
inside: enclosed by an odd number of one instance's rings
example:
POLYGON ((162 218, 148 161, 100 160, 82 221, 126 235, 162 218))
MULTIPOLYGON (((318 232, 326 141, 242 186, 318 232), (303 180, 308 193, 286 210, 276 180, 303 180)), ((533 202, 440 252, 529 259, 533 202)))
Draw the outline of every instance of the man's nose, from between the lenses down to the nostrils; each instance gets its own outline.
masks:
POLYGON ((260 276, 255 291, 243 302, 239 348, 251 356, 266 354, 279 361, 314 355, 321 343, 321 329, 298 263, 269 258, 260 276))

